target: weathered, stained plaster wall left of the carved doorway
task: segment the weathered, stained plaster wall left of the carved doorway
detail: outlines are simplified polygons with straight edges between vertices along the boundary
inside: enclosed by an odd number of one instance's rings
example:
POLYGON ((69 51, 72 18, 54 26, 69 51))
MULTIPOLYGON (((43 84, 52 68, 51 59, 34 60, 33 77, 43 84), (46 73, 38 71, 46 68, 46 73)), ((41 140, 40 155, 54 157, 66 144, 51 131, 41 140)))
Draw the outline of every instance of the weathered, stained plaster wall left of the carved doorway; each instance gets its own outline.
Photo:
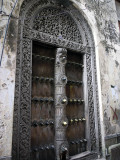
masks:
MULTIPOLYGON (((4 1, 0 15, 0 55, 2 52, 8 16, 14 1, 4 1)), ((17 49, 18 7, 12 14, 8 28, 2 64, 0 66, 0 158, 11 156, 14 86, 17 49)))

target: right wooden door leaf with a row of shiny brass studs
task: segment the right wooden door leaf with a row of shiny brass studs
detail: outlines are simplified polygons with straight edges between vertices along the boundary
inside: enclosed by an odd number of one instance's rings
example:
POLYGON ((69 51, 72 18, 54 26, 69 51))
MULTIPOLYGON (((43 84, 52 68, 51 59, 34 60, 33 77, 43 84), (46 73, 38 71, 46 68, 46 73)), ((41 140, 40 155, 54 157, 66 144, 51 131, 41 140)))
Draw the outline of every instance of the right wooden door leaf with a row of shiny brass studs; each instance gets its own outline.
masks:
POLYGON ((77 53, 68 52, 68 63, 66 75, 66 95, 68 105, 66 116, 69 121, 67 128, 67 140, 69 142, 70 156, 79 154, 86 150, 85 139, 85 115, 83 96, 83 56, 77 53))

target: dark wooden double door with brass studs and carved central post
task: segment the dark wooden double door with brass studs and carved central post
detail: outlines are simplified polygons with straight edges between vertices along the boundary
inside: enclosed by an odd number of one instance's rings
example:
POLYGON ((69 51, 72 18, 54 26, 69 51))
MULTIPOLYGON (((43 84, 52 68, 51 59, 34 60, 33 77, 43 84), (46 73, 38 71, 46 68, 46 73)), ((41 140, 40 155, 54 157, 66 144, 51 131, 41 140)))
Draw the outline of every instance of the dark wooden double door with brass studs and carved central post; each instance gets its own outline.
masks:
POLYGON ((83 56, 33 43, 31 160, 86 151, 83 56))

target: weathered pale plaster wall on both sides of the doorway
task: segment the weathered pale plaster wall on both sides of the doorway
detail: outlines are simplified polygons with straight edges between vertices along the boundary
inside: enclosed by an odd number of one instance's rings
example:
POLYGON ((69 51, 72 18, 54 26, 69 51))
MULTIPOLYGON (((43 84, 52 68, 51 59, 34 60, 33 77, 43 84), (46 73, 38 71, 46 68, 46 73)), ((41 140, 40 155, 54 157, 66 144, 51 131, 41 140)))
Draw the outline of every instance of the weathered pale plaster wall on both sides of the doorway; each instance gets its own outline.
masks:
MULTIPOLYGON (((72 1, 88 20, 95 39, 101 130, 105 149, 104 136, 120 132, 120 46, 115 2, 114 0, 72 1)), ((4 0, 5 13, 0 15, 0 53, 8 15, 14 2, 15 0, 4 0)), ((23 0, 18 0, 12 14, 0 67, 0 158, 11 156, 17 31, 22 2, 23 0)))

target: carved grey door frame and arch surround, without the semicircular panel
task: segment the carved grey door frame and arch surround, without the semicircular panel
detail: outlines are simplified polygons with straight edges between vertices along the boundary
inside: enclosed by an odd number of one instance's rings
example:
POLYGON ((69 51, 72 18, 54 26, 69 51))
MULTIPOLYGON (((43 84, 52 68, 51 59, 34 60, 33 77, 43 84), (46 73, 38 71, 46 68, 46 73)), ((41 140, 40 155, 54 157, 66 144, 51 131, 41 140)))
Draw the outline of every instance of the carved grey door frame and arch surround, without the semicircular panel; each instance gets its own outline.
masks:
POLYGON ((96 55, 92 31, 83 17, 73 5, 62 8, 74 20, 81 35, 81 43, 60 39, 54 35, 39 32, 32 28, 33 19, 38 11, 52 7, 61 9, 55 0, 25 0, 21 6, 18 49, 16 60, 16 84, 13 124, 13 160, 30 160, 31 141, 31 74, 32 74, 32 42, 62 47, 84 54, 84 97, 86 122, 89 139, 88 150, 101 152, 101 131, 99 118, 99 100, 96 74, 96 55), (93 98, 94 97, 94 98, 93 98))

